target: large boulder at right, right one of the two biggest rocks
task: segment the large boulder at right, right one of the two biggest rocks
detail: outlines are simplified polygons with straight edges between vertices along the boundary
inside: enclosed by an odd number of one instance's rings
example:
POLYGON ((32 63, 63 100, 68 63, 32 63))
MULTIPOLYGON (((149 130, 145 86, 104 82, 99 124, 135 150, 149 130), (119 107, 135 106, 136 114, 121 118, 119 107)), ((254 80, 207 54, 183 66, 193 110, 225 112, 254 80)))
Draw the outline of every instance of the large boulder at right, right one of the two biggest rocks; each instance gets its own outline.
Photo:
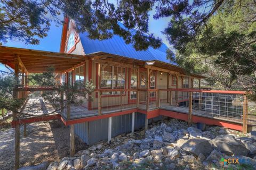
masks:
POLYGON ((241 141, 236 140, 232 135, 219 135, 211 140, 212 146, 227 155, 247 156, 249 150, 241 141))

